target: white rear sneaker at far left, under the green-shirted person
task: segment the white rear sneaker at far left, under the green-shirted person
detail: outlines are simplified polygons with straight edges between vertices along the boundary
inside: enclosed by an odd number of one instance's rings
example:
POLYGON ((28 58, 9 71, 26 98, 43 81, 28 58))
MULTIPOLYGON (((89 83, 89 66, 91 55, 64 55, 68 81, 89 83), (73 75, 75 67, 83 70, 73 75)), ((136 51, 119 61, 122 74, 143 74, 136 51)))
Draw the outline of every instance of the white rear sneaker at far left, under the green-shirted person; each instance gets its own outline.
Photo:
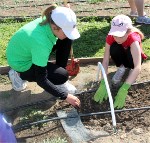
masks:
POLYGON ((22 80, 16 71, 11 69, 8 74, 15 91, 22 91, 27 87, 27 81, 22 80))

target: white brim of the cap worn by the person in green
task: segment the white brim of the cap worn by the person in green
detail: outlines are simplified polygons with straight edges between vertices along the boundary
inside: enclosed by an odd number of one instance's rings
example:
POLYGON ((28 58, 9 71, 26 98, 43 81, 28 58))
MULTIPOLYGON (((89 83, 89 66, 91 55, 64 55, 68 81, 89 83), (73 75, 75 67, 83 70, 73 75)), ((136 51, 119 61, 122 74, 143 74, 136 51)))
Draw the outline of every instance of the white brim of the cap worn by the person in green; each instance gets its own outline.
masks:
POLYGON ((77 28, 73 28, 72 31, 70 31, 70 30, 63 30, 63 32, 71 40, 75 40, 75 39, 78 39, 80 37, 80 33, 79 33, 77 28))

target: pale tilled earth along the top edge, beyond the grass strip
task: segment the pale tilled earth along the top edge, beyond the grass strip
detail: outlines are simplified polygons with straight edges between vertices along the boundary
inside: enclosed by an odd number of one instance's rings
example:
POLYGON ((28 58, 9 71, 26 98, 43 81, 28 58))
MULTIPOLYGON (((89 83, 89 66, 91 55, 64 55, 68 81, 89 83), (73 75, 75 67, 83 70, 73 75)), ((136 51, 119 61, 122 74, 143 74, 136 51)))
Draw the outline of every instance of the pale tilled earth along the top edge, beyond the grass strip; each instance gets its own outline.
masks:
MULTIPOLYGON (((77 16, 110 17, 118 14, 130 13, 130 7, 126 0, 106 1, 90 3, 90 0, 68 0, 71 8, 77 16)), ((38 17, 52 3, 63 4, 63 0, 1 0, 0 18, 7 17, 38 17)), ((150 1, 145 0, 145 12, 150 16, 150 1)))

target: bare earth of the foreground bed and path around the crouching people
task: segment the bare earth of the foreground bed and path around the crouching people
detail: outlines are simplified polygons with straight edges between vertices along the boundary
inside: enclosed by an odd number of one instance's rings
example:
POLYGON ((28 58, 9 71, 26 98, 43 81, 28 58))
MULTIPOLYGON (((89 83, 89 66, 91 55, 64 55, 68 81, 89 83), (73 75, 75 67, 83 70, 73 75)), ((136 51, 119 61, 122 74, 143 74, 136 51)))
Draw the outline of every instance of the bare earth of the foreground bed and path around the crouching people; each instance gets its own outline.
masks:
MULTIPOLYGON (((135 84, 129 90, 126 104, 124 109, 148 107, 150 105, 150 62, 142 65, 142 72, 138 76, 136 82, 144 82, 142 84, 135 84), (148 82, 145 82, 148 81, 148 82)), ((116 70, 115 66, 109 67, 109 84, 111 93, 114 97, 119 87, 111 86, 111 77, 116 70)), ((93 96, 98 88, 99 83, 95 81, 97 74, 97 65, 88 64, 81 65, 80 73, 70 79, 77 89, 79 90, 77 96, 81 100, 81 108, 78 109, 79 113, 98 113, 110 111, 108 100, 99 104, 93 101, 93 96), (90 92, 92 91, 92 92, 90 92)), ((11 112, 5 113, 5 116, 12 122, 13 126, 20 127, 21 125, 43 120, 47 118, 57 117, 57 110, 70 110, 72 107, 64 101, 55 100, 53 96, 48 95, 35 83, 28 83, 28 88, 23 92, 15 92, 11 89, 7 76, 1 76, 1 96, 0 108, 1 110, 12 109, 18 106, 39 103, 24 108, 16 108, 11 112), (37 110, 40 110, 37 112, 37 110), (34 112, 33 112, 34 111, 34 112), (22 119, 21 119, 22 118, 22 119)), ((117 134, 113 133, 111 114, 102 114, 94 116, 81 117, 82 123, 89 130, 106 131, 110 134, 107 137, 100 137, 92 140, 92 143, 149 143, 150 133, 150 110, 132 110, 126 112, 116 113, 117 134)), ((59 120, 50 121, 44 124, 34 125, 27 128, 19 128, 15 130, 18 142, 42 142, 46 138, 61 137, 66 138, 68 143, 71 139, 65 133, 59 120)))

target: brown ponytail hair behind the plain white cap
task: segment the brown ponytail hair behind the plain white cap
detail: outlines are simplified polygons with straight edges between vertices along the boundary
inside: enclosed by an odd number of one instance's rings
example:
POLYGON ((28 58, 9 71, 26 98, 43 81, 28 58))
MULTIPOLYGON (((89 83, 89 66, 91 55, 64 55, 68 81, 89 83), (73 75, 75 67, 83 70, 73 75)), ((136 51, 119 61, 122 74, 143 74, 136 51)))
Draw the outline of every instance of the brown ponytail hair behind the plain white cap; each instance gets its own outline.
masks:
POLYGON ((54 10, 56 7, 57 7, 57 5, 53 4, 43 11, 43 13, 42 13, 43 21, 40 23, 41 26, 49 24, 49 23, 55 24, 51 18, 51 13, 52 13, 52 10, 54 10), (46 19, 44 19, 44 18, 46 18, 46 19))

